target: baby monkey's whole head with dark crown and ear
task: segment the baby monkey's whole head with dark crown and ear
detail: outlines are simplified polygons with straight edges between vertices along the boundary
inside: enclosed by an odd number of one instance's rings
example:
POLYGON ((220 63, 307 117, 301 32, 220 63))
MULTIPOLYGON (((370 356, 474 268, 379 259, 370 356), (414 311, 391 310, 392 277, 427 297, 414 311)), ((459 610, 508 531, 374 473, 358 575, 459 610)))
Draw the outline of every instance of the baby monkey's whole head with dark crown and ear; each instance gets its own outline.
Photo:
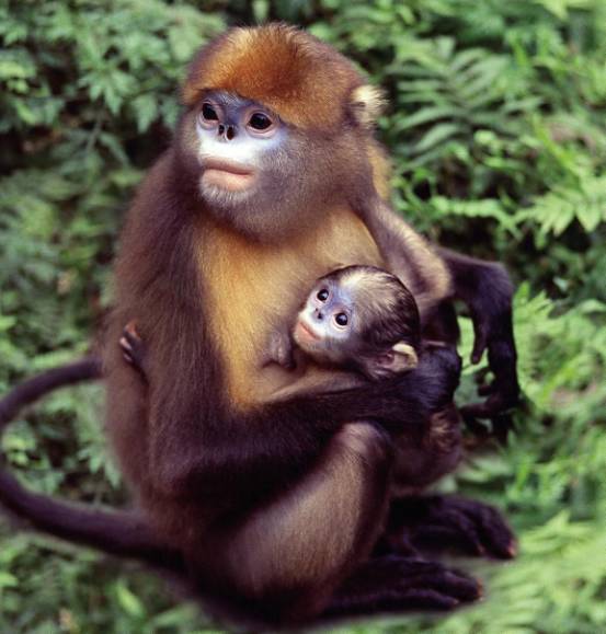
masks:
POLYGON ((421 324, 414 298, 395 275, 346 266, 318 280, 293 336, 317 361, 378 380, 416 367, 421 324))

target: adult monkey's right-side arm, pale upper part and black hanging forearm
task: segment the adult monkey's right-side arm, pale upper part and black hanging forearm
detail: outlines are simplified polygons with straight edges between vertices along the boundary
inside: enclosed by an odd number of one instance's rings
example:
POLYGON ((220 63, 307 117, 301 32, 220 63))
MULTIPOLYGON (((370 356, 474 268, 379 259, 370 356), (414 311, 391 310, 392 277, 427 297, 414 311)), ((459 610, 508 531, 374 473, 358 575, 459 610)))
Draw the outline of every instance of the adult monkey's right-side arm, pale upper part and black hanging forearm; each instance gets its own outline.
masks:
POLYGON ((471 361, 488 349, 494 382, 482 403, 461 410, 466 420, 493 418, 517 403, 519 385, 512 325, 513 285, 505 268, 447 249, 433 247, 376 192, 353 200, 389 268, 401 277, 419 303, 431 311, 444 300, 460 299, 473 321, 476 341, 471 361))

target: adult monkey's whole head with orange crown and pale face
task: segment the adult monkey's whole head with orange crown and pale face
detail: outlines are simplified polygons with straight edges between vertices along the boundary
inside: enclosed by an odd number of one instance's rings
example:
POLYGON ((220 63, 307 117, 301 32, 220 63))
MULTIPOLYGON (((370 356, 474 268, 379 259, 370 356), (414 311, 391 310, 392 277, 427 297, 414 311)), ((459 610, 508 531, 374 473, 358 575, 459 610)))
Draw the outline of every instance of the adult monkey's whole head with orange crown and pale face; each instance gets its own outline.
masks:
POLYGON ((180 134, 207 210, 265 242, 313 227, 368 172, 363 87, 346 58, 284 25, 232 30, 204 48, 180 134))

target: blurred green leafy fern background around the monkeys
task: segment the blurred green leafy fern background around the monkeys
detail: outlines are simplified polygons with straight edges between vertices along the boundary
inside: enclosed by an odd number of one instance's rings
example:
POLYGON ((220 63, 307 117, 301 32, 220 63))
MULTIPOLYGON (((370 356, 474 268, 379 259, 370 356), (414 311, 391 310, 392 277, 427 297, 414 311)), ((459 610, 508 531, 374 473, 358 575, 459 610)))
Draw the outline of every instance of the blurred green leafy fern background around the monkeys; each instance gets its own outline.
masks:
MULTIPOLYGON (((188 58, 225 25, 267 19, 308 26, 387 89, 393 204, 518 286, 515 433, 442 487, 500 506, 519 557, 458 562, 485 580, 478 606, 342 631, 606 631, 604 0, 0 0, 0 391, 93 343, 188 58)), ((3 440, 13 468, 46 493, 123 504, 102 401, 92 385, 27 413, 3 440)), ((5 522, 0 540, 2 632, 216 631, 136 566, 5 522)))

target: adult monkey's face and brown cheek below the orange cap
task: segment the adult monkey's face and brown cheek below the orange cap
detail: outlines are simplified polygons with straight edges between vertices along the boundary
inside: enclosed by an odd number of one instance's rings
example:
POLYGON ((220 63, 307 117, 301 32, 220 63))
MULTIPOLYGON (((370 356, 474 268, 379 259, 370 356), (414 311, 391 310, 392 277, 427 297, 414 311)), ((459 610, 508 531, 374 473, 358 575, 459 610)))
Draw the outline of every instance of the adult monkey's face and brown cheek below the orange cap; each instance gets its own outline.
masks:
POLYGON ((327 163, 334 163, 336 145, 328 157, 327 140, 225 91, 206 92, 195 113, 198 192, 216 217, 272 241, 305 228, 301 210, 325 207, 334 188, 327 163))

